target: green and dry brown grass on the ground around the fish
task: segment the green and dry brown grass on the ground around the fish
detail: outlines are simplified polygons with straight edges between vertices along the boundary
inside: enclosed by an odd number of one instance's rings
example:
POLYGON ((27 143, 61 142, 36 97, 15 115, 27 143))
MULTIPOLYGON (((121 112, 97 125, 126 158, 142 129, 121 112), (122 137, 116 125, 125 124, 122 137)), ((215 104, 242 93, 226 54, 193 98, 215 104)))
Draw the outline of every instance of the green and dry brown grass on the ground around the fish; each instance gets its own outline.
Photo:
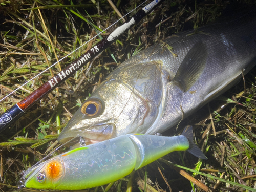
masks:
MULTIPOLYGON (((117 8, 122 15, 142 3, 125 2, 114 2, 115 5, 119 4, 117 8)), ((17 190, 19 174, 58 146, 56 137, 61 129, 78 106, 117 65, 169 34, 214 21, 226 6, 226 2, 219 1, 186 3, 163 2, 139 25, 120 37, 109 51, 102 52, 90 65, 32 106, 26 115, 12 125, 8 135, 1 134, 2 191, 17 190), (17 127, 22 127, 18 133, 17 127)), ((98 3, 2 0, 0 14, 0 98, 72 53, 50 71, 2 101, 1 113, 95 45, 99 37, 73 52, 95 36, 97 31, 105 29, 119 18, 108 1, 103 0, 98 3)), ((105 36, 113 30, 110 28, 101 35, 105 36)), ((117 182, 85 191, 131 191, 131 188, 133 191, 170 191, 170 188, 172 191, 256 191, 253 189, 256 183, 254 74, 255 69, 245 76, 246 89, 241 82, 179 125, 180 128, 186 124, 193 125, 196 141, 203 147, 207 161, 198 161, 188 153, 174 152, 117 182), (242 91, 242 95, 237 95, 242 91), (212 127, 215 127, 216 134, 212 127), (203 189, 189 182, 193 181, 191 175, 202 182, 200 186, 203 189)), ((171 129, 165 135, 177 133, 171 129)), ((55 155, 65 150, 61 148, 55 155)))

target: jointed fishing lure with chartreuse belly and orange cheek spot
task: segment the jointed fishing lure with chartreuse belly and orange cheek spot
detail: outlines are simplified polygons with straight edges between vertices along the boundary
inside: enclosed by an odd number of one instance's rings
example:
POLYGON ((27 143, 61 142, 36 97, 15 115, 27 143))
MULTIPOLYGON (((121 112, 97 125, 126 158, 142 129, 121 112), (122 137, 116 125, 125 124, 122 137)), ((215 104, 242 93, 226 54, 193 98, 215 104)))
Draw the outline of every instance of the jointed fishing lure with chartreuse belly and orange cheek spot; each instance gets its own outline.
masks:
POLYGON ((76 148, 27 170, 20 187, 79 190, 116 181, 173 151, 207 159, 188 127, 180 136, 128 134, 76 148))

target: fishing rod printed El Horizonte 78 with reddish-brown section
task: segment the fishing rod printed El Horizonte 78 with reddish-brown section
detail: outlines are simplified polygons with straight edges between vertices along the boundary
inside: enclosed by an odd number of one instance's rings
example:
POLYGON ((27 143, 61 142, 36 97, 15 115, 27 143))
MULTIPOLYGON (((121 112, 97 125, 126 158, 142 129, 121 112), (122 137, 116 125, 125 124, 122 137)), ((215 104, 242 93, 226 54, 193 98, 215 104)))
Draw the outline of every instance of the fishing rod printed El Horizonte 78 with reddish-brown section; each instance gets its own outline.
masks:
POLYGON ((84 65, 93 60, 99 53, 108 48, 121 34, 126 30, 130 29, 132 26, 140 22, 142 18, 146 16, 151 10, 153 10, 157 5, 159 5, 161 0, 154 0, 150 4, 147 4, 141 10, 139 10, 129 22, 124 23, 117 29, 115 29, 109 36, 103 38, 98 44, 88 50, 86 53, 82 54, 78 59, 73 61, 68 67, 60 71, 57 75, 52 77, 45 84, 40 86, 37 90, 31 93, 22 101, 13 105, 5 113, 0 115, 0 133, 3 133, 7 127, 9 127, 13 122, 19 119, 25 114, 25 112, 34 105, 37 101, 44 98, 53 89, 59 86, 60 83, 71 77, 78 70, 80 70, 84 65))

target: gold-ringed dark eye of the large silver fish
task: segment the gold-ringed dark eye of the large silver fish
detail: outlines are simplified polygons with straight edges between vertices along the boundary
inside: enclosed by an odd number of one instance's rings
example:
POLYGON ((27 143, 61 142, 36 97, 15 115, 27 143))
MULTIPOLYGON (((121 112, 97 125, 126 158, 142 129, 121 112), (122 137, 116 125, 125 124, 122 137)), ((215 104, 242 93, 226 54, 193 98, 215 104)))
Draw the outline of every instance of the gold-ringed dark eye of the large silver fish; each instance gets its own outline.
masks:
POLYGON ((83 103, 81 112, 89 117, 95 117, 102 111, 102 104, 99 99, 92 98, 83 103))

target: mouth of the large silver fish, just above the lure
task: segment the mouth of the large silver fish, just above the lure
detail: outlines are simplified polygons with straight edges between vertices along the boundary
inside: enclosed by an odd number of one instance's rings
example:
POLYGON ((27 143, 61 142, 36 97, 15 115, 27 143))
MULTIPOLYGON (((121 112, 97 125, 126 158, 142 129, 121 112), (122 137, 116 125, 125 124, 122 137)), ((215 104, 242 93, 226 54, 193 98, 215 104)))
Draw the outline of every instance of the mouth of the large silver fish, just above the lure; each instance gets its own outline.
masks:
POLYGON ((116 137, 116 126, 114 123, 95 124, 89 128, 81 127, 77 130, 63 130, 58 137, 58 142, 72 146, 73 149, 84 144, 90 145, 113 137, 116 137))

